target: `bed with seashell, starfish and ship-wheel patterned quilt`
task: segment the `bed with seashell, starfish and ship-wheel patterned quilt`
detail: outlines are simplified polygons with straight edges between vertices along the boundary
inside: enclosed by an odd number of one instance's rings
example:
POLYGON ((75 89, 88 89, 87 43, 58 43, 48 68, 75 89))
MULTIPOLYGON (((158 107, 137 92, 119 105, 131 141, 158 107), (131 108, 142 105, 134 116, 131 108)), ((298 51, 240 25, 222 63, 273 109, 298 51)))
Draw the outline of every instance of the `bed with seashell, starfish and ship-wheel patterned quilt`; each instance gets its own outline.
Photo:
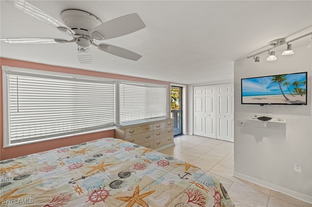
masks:
POLYGON ((0 162, 0 205, 234 207, 218 179, 117 138, 0 162))

